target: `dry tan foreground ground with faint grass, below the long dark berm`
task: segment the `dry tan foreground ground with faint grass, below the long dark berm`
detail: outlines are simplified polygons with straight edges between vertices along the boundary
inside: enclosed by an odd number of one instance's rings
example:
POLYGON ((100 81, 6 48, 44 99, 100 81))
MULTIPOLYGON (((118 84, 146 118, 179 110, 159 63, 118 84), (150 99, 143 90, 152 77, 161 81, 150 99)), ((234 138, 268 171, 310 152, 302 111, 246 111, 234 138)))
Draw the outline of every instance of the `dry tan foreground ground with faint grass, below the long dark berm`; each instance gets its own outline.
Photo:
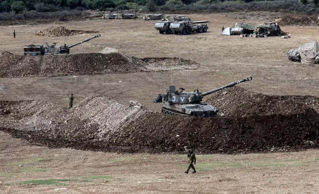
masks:
POLYGON ((318 193, 318 150, 187 157, 47 149, 1 135, 2 193, 318 193), (19 165, 23 164, 23 167, 19 165), (181 166, 182 165, 182 166, 181 166), (94 176, 93 176, 94 175, 94 176), (110 177, 109 177, 110 176, 110 177), (53 179, 53 180, 52 180, 53 179), (39 184, 50 180, 51 184, 39 184), (59 181, 63 180, 63 181, 59 181))

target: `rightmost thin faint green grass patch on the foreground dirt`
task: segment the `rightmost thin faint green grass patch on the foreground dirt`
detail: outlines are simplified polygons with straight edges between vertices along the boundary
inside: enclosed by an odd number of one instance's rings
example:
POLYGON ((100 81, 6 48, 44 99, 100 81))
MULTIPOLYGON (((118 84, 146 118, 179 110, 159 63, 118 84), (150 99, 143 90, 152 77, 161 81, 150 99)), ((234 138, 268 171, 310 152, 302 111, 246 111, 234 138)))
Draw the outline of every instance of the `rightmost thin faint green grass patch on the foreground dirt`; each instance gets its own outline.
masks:
POLYGON ((296 167, 296 166, 308 166, 311 160, 309 159, 297 159, 297 160, 257 160, 257 161, 246 161, 245 165, 255 167, 269 167, 269 166, 284 166, 284 167, 296 167))

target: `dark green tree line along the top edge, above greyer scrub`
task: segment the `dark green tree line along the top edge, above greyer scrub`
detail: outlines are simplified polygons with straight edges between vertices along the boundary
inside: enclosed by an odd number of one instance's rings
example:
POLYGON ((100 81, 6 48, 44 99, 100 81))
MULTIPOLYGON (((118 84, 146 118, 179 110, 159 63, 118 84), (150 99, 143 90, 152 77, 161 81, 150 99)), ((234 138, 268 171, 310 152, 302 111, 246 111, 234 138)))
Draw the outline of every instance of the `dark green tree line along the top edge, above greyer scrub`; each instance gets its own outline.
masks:
MULTIPOLYGON (((21 13, 23 11, 35 10, 38 12, 54 12, 66 9, 77 10, 101 10, 101 11, 114 11, 114 10, 143 10, 143 11, 157 11, 157 10, 169 10, 173 9, 194 9, 200 8, 202 5, 212 4, 226 4, 226 7, 238 7, 234 4, 251 4, 261 2, 275 2, 276 0, 0 0, 0 12, 13 12, 21 13)), ((294 0, 286 0, 286 2, 294 3, 294 0)), ((262 3, 261 3, 262 4, 262 3)), ((275 4, 275 3, 273 3, 275 4)), ((301 5, 315 5, 308 6, 311 9, 317 10, 319 0, 298 0, 298 4, 301 5)), ((257 6, 256 4, 255 6, 257 6)), ((263 5, 263 4, 262 4, 263 5)), ((296 6, 292 5, 291 6, 296 6)), ((223 6, 211 6, 221 7, 223 6)), ((282 6, 283 7, 283 6, 282 6)), ((289 9, 289 8, 283 8, 289 9)), ((307 8, 309 9, 309 8, 307 8)), ((222 10, 221 10, 222 11, 222 10)), ((310 12, 310 11, 308 11, 310 12)), ((312 11, 313 12, 313 11, 312 11)))

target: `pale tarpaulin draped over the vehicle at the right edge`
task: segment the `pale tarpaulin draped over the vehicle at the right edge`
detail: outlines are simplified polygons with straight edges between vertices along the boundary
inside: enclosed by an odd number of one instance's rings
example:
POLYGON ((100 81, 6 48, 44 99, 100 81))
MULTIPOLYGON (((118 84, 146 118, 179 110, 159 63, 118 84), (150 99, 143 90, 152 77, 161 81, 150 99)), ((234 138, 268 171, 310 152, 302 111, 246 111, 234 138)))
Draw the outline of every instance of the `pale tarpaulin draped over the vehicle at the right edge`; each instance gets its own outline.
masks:
POLYGON ((309 42, 298 48, 301 63, 315 63, 315 58, 319 54, 319 45, 317 41, 309 42))

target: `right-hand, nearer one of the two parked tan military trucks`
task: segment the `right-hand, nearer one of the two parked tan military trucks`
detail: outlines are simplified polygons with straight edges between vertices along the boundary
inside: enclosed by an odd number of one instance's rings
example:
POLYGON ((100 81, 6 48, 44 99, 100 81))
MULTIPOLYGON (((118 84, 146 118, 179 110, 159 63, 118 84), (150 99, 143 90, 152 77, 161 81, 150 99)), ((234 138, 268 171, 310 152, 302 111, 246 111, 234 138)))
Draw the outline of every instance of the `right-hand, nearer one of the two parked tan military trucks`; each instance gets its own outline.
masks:
POLYGON ((208 26, 207 24, 209 21, 180 21, 180 22, 171 22, 169 28, 171 29, 174 34, 191 34, 192 32, 207 32, 208 26))

